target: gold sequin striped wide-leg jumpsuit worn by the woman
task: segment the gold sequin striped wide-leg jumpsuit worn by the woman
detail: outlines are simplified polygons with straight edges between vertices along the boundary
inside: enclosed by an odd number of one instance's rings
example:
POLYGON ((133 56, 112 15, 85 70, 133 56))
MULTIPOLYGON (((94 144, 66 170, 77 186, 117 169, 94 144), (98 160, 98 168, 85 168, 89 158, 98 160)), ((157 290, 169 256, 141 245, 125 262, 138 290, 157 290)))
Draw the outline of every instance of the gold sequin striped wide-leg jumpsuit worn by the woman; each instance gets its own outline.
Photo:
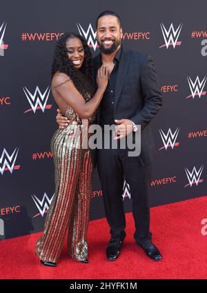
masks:
MULTIPOLYGON (((82 95, 86 101, 90 99, 87 92, 82 95)), ((90 119, 81 121, 68 105, 65 116, 70 121, 68 127, 59 128, 51 141, 55 163, 55 196, 46 216, 43 235, 35 248, 41 261, 52 263, 59 260, 67 232, 68 254, 77 261, 88 257, 86 235, 91 196, 92 150, 80 148, 80 145, 91 135, 84 125, 88 121, 90 126, 95 120, 95 114, 90 119)))

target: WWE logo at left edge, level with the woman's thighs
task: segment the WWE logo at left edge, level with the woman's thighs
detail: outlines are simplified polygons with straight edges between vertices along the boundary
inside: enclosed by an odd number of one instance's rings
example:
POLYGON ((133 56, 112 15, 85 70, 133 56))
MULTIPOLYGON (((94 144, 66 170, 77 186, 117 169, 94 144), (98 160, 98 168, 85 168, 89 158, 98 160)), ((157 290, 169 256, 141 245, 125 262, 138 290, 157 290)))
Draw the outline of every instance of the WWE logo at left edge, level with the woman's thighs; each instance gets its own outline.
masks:
POLYGON ((19 152, 19 149, 17 150, 17 148, 15 148, 14 152, 9 155, 8 152, 6 151, 6 149, 3 149, 3 152, 0 156, 0 172, 1 175, 3 175, 4 171, 10 171, 10 173, 12 174, 13 170, 19 170, 20 165, 14 165, 15 161, 17 160, 17 154, 19 152))

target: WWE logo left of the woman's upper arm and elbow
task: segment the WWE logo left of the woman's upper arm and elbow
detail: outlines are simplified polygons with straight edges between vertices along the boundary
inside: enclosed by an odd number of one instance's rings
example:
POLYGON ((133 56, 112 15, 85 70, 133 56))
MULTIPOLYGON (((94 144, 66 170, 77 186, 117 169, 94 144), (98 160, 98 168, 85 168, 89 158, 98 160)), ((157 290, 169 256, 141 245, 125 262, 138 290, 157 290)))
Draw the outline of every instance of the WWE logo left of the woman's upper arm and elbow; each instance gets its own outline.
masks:
POLYGON ((28 102, 30 103, 31 108, 26 110, 26 112, 33 111, 34 113, 36 110, 41 109, 42 112, 46 109, 50 109, 52 105, 47 105, 48 97, 50 94, 50 88, 46 88, 46 91, 42 94, 41 91, 39 90, 39 87, 37 86, 34 94, 32 94, 26 86, 23 88, 24 93, 26 94, 26 97, 28 99, 28 102))

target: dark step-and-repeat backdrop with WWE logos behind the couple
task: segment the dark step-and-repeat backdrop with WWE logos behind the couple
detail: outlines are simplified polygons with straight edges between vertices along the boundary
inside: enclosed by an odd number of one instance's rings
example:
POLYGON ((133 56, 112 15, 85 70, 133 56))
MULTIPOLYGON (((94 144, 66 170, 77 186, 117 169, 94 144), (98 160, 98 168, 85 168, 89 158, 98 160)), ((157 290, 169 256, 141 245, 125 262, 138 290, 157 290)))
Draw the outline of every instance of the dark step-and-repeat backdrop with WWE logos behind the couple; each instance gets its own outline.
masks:
MULTIPOLYGON (((63 32, 77 32, 99 54, 95 21, 103 10, 121 17, 124 47, 153 57, 164 95, 151 122, 157 154, 150 205, 207 194, 206 1, 1 1, 0 239, 43 230, 55 192, 55 43, 63 32)), ((96 170, 92 185, 91 220, 105 216, 96 170)), ((123 201, 130 212, 127 183, 123 201)))

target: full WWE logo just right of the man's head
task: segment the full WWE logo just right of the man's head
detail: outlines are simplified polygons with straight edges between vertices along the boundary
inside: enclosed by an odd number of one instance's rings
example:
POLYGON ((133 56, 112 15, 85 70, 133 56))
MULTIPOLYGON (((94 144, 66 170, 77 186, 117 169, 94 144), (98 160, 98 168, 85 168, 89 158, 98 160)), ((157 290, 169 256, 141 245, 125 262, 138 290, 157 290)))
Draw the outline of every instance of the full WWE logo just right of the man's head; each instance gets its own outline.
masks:
POLYGON ((164 37, 164 41, 165 41, 165 45, 160 46, 159 48, 163 48, 166 47, 168 49, 169 46, 173 46, 173 48, 175 49, 175 46, 181 45, 181 41, 177 41, 179 34, 181 32, 181 28, 182 28, 182 23, 179 24, 177 30, 174 29, 172 23, 170 24, 170 28, 169 30, 166 30, 166 28, 164 27, 163 23, 160 23, 161 26, 161 32, 163 34, 164 37))

